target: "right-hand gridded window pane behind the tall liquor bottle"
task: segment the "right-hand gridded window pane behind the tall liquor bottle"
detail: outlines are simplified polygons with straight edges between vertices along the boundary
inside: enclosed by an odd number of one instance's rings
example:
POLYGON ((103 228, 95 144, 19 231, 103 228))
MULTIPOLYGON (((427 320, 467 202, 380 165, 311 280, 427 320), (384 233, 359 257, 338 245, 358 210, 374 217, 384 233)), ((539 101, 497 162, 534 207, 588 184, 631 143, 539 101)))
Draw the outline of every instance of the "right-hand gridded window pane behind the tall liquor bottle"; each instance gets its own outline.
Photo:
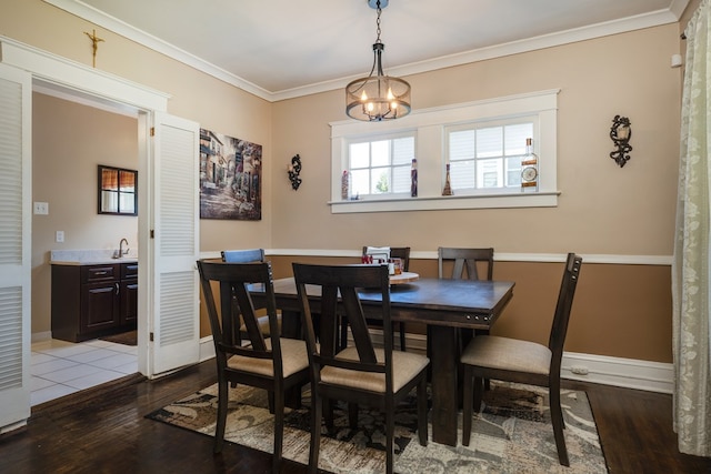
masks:
POLYGON ((514 191, 521 186, 521 159, 525 140, 534 137, 534 118, 500 124, 474 123, 450 127, 447 162, 454 195, 514 191))

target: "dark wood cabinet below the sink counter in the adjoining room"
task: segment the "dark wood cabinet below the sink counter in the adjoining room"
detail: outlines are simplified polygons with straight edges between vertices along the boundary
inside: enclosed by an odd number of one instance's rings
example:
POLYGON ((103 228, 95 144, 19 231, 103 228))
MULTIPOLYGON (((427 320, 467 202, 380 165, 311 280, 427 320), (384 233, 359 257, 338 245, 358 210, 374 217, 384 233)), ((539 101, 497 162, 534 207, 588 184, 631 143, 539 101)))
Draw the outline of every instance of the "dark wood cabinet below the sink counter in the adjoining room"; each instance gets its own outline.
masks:
POLYGON ((52 337, 80 342, 137 327, 138 263, 52 265, 52 337))

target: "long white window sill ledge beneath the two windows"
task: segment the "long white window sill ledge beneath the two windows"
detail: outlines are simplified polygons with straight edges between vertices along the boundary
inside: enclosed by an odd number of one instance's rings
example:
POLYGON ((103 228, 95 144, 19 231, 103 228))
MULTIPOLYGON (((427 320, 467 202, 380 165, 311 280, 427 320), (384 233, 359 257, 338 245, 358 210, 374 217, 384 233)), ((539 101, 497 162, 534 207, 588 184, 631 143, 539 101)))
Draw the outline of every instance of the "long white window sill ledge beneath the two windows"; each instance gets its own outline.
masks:
POLYGON ((555 208, 560 191, 497 195, 440 195, 422 198, 330 201, 332 214, 358 212, 437 211, 453 209, 555 208))

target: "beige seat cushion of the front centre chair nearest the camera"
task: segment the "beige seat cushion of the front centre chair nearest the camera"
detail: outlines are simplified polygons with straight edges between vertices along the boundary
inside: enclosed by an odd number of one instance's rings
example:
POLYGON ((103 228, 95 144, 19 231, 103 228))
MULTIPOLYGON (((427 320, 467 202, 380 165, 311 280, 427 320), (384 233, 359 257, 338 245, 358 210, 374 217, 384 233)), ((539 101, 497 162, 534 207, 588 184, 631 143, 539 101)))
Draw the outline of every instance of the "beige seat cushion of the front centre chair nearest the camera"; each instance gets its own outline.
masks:
MULTIPOLYGON (((354 346, 347 347, 339 352, 337 359, 358 361, 358 350, 354 346)), ((378 362, 384 362, 385 352, 382 349, 375 349, 375 359, 378 362)), ((414 354, 412 352, 393 351, 392 352, 392 390, 398 392, 408 382, 422 372, 430 360, 424 355, 414 354)), ((372 372, 359 372, 347 369, 326 366, 321 371, 321 382, 351 386, 353 389, 367 390, 369 392, 385 393, 385 374, 372 372)))

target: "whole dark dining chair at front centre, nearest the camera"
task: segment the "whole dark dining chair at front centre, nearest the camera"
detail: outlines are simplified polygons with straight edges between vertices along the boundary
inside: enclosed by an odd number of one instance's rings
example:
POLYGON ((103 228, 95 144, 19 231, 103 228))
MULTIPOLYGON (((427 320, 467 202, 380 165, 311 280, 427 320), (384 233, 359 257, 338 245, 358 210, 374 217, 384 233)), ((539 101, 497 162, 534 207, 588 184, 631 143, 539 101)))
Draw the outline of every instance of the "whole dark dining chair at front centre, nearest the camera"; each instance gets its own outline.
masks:
POLYGON ((313 265, 293 263, 298 299, 306 327, 311 370, 311 445, 309 472, 319 464, 321 421, 326 410, 326 425, 333 426, 331 401, 349 402, 349 423, 358 424, 358 405, 374 406, 385 417, 385 467, 393 471, 394 415, 397 403, 417 387, 418 434, 427 445, 427 370, 428 357, 411 352, 393 351, 390 320, 390 280, 384 265, 313 265), (320 290, 317 302, 310 300, 320 290), (359 291, 380 293, 380 304, 363 306, 359 291), (318 304, 318 306, 316 306, 318 304), (368 331, 364 307, 383 321, 384 347, 375 347, 368 331), (320 315, 320 345, 312 314, 320 315), (346 314, 353 335, 352 345, 339 350, 339 314, 346 314))

